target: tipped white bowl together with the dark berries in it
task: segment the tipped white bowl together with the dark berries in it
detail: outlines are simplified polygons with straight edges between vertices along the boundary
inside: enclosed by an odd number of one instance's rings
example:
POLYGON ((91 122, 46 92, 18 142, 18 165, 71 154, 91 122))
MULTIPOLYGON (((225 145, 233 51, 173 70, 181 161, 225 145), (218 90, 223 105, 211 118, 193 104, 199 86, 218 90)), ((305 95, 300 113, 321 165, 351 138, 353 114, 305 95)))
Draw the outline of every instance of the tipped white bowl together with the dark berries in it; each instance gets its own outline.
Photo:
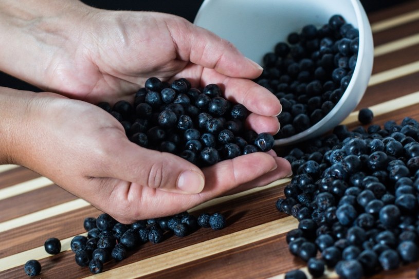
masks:
POLYGON ((264 67, 255 81, 283 106, 276 145, 330 131, 352 112, 368 86, 372 33, 358 0, 206 0, 195 24, 264 67))

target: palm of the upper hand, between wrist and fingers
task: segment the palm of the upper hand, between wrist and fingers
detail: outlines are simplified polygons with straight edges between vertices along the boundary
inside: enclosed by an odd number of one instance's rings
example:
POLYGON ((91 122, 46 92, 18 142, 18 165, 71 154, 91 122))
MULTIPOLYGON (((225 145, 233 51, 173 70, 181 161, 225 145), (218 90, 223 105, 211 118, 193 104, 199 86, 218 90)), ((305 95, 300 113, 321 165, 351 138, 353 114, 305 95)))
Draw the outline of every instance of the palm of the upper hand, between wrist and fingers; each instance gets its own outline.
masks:
POLYGON ((142 12, 99 11, 79 28, 48 66, 49 90, 92 103, 128 99, 150 77, 201 78, 203 67, 182 58, 172 29, 185 29, 180 18, 142 12), (105 16, 106 15, 106 16, 105 16), (156 18, 155 16, 159 18, 156 18))

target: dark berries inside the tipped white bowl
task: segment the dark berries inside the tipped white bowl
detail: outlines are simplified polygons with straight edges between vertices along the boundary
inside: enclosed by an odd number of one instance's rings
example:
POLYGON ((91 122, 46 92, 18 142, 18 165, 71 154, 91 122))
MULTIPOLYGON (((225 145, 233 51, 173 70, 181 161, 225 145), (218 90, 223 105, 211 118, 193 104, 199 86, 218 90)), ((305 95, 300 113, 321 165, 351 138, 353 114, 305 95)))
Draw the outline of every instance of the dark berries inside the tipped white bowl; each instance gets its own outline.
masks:
POLYGON ((305 131, 333 109, 351 81, 358 46, 358 30, 333 15, 320 28, 310 24, 290 33, 264 55, 256 81, 281 101, 276 138, 305 131))

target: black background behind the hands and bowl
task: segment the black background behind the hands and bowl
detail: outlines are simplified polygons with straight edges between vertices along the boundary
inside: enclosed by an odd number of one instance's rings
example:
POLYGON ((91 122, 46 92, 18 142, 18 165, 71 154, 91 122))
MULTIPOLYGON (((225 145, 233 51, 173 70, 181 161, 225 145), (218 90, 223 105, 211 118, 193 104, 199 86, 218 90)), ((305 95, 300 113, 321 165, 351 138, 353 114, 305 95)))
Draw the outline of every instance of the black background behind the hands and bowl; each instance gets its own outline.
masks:
MULTIPOLYGON (((203 0, 82 0, 82 2, 90 6, 109 10, 142 10, 171 13, 185 17, 190 22, 193 22, 203 0)), ((402 2, 406 2, 406 0, 361 0, 367 13, 402 2)), ((40 91, 38 88, 6 75, 3 72, 0 72, 0 86, 40 91)))

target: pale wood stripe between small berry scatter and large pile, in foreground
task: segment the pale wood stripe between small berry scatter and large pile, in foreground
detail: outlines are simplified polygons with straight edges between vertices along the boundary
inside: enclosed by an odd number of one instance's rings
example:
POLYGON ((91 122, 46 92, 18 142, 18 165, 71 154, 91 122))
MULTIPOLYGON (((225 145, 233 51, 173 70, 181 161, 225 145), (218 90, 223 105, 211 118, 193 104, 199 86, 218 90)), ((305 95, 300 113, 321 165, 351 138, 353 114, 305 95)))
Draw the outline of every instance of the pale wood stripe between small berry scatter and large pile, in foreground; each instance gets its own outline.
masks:
POLYGON ((297 228, 292 216, 160 254, 86 278, 132 279, 238 248, 297 228), (135 272, 133 272, 135 270, 135 272))

